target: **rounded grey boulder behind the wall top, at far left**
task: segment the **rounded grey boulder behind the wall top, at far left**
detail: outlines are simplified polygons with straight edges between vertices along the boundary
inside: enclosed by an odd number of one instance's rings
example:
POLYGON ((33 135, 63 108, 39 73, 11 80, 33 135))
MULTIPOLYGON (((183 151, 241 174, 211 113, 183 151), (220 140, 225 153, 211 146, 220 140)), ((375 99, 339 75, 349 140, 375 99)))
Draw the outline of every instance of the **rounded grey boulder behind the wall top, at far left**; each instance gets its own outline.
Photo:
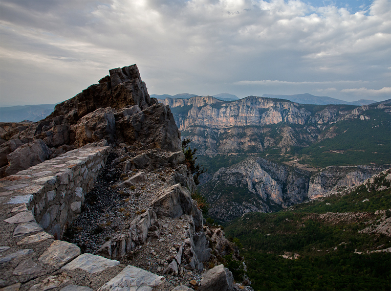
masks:
POLYGON ((50 155, 50 150, 42 139, 36 139, 18 147, 7 155, 9 167, 5 170, 7 175, 15 174, 21 170, 42 163, 50 155))

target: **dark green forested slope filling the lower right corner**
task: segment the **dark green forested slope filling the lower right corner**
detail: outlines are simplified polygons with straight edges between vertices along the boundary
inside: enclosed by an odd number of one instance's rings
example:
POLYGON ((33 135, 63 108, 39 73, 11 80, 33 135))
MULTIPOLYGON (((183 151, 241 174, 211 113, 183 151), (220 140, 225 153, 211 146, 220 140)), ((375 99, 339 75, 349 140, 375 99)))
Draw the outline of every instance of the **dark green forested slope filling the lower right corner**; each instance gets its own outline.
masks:
POLYGON ((390 201, 380 175, 343 196, 245 214, 225 232, 240 242, 255 290, 390 290, 391 255, 379 251, 390 238, 366 230, 391 217, 390 201))

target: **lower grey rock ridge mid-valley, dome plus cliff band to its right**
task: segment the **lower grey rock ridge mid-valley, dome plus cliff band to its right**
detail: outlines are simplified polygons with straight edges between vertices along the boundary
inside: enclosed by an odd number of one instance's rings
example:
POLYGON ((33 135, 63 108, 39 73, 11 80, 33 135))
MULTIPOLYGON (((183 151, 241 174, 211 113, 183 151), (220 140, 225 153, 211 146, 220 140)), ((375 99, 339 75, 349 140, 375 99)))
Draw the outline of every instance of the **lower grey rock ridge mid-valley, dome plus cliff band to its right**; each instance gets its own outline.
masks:
POLYGON ((201 193, 218 221, 248 212, 274 212, 360 185, 387 166, 326 167, 311 173, 260 157, 247 158, 203 177, 201 193))

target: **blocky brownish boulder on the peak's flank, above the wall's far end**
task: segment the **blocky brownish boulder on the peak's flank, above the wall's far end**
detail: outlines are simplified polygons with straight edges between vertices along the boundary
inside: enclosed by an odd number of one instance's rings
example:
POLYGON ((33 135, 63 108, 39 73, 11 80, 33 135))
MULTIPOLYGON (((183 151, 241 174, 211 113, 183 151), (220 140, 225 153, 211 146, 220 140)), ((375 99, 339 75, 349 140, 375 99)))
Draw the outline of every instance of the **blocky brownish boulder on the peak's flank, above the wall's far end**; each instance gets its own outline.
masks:
POLYGON ((115 140, 115 118, 110 107, 99 108, 80 118, 72 128, 76 134, 76 145, 106 139, 109 143, 115 140))

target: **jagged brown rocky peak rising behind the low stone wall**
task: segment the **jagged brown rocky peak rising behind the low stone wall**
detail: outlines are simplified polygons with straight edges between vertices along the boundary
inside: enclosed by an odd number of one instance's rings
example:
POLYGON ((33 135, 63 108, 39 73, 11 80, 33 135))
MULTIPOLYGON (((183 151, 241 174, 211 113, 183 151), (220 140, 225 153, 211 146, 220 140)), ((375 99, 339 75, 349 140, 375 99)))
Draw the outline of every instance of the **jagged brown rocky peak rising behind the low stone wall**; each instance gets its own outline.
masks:
MULTIPOLYGON (((54 112, 39 122, 2 124, 0 176, 17 169, 12 166, 15 155, 8 155, 23 144, 37 145, 36 140, 48 148, 41 146, 39 161, 100 140, 134 148, 148 145, 173 152, 181 150, 180 133, 169 107, 150 98, 137 66, 111 69, 109 73, 99 84, 56 105, 54 112)), ((33 157, 24 164, 31 166, 36 160, 33 157)))

